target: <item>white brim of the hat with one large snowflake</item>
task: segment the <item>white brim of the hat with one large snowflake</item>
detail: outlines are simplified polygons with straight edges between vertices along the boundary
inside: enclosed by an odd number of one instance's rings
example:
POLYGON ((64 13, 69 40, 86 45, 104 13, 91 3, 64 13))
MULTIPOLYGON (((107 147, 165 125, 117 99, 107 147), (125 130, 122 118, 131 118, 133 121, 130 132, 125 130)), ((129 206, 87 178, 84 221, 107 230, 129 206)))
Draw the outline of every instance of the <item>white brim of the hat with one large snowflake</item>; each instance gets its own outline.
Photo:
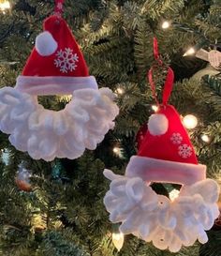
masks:
POLYGON ((66 95, 80 89, 98 89, 96 78, 19 76, 16 89, 29 95, 66 95))

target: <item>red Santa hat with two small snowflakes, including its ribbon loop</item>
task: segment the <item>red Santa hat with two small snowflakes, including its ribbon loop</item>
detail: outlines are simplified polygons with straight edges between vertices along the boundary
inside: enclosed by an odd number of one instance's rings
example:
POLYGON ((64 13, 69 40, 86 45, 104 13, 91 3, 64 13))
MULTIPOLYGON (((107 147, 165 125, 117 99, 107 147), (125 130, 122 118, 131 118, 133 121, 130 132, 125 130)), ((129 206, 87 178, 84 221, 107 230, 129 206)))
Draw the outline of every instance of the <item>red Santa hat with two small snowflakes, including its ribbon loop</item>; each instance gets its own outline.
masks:
MULTIPOLYGON (((156 40, 154 50, 155 58, 161 64, 156 40)), ((172 69, 168 71, 162 104, 155 96, 152 72, 153 68, 149 71, 149 81, 158 110, 150 116, 138 155, 130 158, 125 175, 140 176, 147 182, 191 185, 206 178, 206 166, 198 163, 180 114, 168 104, 174 78, 172 69)))

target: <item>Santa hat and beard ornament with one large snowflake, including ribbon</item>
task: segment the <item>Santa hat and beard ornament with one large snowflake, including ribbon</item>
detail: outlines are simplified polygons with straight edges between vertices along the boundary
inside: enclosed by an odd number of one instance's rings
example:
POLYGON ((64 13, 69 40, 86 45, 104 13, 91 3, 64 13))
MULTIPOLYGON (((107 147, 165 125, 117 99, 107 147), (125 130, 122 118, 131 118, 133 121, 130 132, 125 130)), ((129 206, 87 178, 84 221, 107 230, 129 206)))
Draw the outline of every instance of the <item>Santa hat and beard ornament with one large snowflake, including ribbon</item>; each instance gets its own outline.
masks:
MULTIPOLYGON (((56 12, 62 2, 56 1, 56 12)), ((95 77, 89 76, 66 21, 52 15, 45 20, 15 88, 0 90, 0 129, 32 158, 79 158, 86 148, 96 149, 114 127, 119 112, 114 98, 111 89, 98 89, 95 77), (59 112, 37 102, 39 95, 66 94, 72 99, 59 112)))

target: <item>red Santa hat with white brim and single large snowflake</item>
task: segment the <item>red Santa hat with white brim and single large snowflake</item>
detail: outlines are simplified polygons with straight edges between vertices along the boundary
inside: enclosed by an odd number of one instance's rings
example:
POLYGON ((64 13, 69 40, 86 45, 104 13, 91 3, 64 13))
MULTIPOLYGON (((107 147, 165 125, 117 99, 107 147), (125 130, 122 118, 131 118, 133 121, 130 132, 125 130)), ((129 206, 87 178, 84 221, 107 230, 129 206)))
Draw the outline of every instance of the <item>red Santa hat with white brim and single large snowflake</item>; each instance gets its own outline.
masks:
POLYGON ((81 50, 66 21, 53 15, 45 20, 44 32, 17 78, 16 88, 31 95, 72 94, 74 90, 97 89, 89 76, 81 50))

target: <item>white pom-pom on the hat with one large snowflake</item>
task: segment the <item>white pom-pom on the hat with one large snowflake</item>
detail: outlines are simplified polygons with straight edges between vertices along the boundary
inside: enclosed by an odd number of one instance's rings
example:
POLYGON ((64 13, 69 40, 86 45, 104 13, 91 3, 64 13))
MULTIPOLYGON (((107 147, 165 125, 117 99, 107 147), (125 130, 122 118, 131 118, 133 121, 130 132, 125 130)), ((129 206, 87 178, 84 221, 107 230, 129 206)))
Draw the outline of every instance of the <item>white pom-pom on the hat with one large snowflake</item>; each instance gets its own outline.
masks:
POLYGON ((57 42, 50 32, 45 31, 37 36, 36 49, 41 56, 49 56, 57 50, 57 42))

